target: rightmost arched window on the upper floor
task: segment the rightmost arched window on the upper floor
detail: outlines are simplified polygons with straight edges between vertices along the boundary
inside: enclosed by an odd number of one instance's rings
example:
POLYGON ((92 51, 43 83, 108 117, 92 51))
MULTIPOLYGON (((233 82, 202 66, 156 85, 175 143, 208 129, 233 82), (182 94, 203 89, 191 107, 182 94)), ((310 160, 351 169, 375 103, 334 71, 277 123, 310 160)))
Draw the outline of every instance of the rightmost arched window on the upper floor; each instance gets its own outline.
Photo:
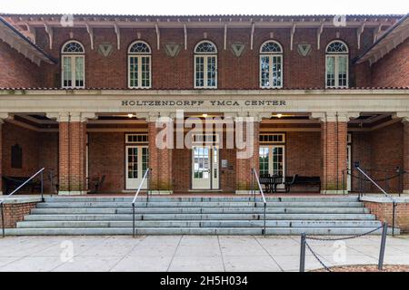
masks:
POLYGON ((348 87, 348 46, 339 40, 328 43, 325 50, 325 86, 348 87))

